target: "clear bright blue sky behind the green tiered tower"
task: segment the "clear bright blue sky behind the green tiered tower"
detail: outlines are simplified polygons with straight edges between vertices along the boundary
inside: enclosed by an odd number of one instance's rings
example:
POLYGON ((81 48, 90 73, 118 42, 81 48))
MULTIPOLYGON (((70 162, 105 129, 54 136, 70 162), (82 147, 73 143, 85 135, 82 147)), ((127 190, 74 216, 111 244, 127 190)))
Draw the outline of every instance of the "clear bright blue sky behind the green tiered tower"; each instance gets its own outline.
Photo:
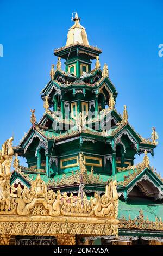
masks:
MULTIPOLYGON (((116 109, 126 104, 129 123, 143 137, 156 126, 159 144, 151 166, 162 170, 163 2, 135 1, 5 1, 0 0, 1 125, 0 144, 14 133, 17 145, 30 127, 30 109, 43 114, 40 91, 57 59, 54 48, 66 44, 77 11, 91 45, 103 50, 109 76, 118 91, 116 109)), ((94 64, 93 64, 94 66, 94 64)), ((142 156, 136 157, 136 162, 142 156)))

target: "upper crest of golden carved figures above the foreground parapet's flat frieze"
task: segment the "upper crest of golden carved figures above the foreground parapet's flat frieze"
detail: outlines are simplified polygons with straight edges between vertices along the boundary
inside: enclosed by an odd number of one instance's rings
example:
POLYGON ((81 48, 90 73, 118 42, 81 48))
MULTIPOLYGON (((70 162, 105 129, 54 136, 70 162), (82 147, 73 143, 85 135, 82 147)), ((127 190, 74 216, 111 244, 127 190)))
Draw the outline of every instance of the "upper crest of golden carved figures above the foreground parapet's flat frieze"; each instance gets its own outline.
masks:
MULTIPOLYGON (((64 193, 61 196, 52 190, 47 191, 47 185, 41 180, 40 174, 32 182, 31 188, 25 187, 22 193, 17 194, 17 198, 10 198, 12 215, 49 215, 49 216, 99 216, 116 218, 118 206, 118 194, 116 191, 116 181, 111 181, 106 186, 103 196, 95 193, 90 200, 86 195, 82 198, 80 193, 77 197, 64 193), (38 214, 39 213, 39 214, 38 214)), ((6 214, 1 211, 1 215, 6 214)))

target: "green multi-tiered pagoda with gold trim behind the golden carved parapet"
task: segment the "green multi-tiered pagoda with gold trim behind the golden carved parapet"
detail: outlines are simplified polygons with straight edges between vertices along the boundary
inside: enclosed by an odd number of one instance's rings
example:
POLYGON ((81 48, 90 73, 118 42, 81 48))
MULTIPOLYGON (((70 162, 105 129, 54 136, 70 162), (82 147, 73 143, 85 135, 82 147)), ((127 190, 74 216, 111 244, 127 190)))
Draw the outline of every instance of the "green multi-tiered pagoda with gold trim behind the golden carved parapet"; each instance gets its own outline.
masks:
MULTIPOLYGON (((151 138, 145 139, 129 124, 126 105, 122 115, 117 112, 118 93, 108 65, 101 68, 102 51, 89 44, 77 13, 72 20, 66 45, 54 50, 57 63, 40 93, 45 112, 37 121, 35 110, 31 111, 32 126, 14 148, 11 185, 30 188, 39 174, 48 190, 91 198, 104 194, 105 186, 116 180, 119 240, 159 244, 163 183, 148 158, 157 145, 155 127, 151 138), (135 165, 140 154, 143 161, 135 165), (18 156, 25 157, 27 167, 20 166, 18 156)), ((111 239, 101 236, 98 243, 120 243, 117 237, 111 239)))

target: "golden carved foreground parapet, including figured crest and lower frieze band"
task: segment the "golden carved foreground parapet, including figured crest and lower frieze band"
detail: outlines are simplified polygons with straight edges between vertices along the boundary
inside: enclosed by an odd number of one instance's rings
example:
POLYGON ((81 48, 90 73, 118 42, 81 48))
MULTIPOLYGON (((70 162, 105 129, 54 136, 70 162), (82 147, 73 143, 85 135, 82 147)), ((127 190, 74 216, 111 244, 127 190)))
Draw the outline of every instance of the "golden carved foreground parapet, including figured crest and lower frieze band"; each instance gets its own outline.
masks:
POLYGON ((16 192, 9 194, 10 205, 1 200, 1 235, 118 234, 116 181, 106 186, 103 196, 95 193, 90 199, 85 193, 74 197, 47 190, 40 175, 31 188, 16 192))

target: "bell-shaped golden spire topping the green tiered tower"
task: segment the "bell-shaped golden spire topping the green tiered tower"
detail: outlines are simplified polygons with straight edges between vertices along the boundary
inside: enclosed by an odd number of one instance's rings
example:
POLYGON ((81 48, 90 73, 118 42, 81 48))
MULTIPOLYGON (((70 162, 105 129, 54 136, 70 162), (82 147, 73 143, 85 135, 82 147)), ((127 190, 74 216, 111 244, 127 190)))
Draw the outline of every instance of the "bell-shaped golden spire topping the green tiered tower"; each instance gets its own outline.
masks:
POLYGON ((85 28, 80 25, 80 18, 77 13, 75 13, 74 18, 72 16, 72 21, 75 23, 68 31, 66 46, 76 44, 77 42, 79 42, 79 44, 89 45, 85 28))

